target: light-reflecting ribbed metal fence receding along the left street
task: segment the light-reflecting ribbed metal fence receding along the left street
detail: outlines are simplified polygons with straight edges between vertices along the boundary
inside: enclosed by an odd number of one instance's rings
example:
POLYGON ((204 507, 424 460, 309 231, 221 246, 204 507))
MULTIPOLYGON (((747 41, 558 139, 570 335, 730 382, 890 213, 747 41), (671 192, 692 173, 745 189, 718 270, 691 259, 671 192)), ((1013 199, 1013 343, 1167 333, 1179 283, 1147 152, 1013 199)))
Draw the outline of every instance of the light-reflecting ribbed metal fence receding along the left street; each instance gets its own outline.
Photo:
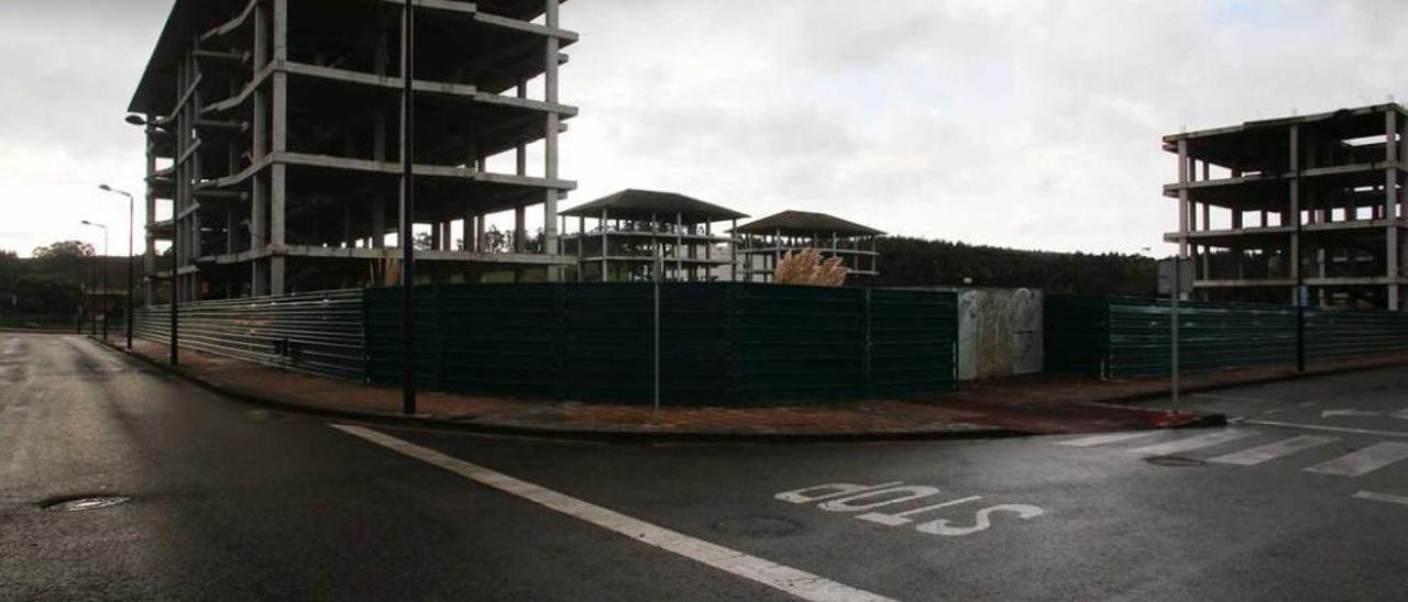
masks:
MULTIPOLYGON (((335 378, 365 380, 362 290, 180 305, 180 346, 335 378)), ((170 305, 135 311, 134 335, 170 342, 170 305)))

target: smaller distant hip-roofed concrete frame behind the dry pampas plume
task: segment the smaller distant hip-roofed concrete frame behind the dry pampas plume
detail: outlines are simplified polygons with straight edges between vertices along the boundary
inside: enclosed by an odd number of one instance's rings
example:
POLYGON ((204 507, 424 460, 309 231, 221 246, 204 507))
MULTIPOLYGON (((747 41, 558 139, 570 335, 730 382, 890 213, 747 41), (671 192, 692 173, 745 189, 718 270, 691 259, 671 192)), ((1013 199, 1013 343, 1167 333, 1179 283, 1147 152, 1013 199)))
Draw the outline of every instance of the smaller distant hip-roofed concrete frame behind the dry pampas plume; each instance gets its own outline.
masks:
POLYGON ((742 225, 734 232, 739 236, 738 253, 746 281, 773 281, 777 263, 787 253, 808 248, 828 259, 841 257, 855 278, 880 274, 876 239, 884 232, 834 215, 783 211, 742 225))

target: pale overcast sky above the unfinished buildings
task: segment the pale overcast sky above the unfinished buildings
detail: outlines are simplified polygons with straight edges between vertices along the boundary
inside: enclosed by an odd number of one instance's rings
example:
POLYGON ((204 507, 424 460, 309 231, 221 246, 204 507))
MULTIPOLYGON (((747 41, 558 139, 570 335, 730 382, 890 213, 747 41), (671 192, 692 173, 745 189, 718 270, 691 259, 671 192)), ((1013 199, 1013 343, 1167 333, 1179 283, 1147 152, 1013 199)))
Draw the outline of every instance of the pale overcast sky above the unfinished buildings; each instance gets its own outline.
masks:
MULTIPOLYGON (((122 117, 172 0, 4 6, 0 249, 94 241, 93 219, 117 252, 125 200, 97 184, 141 193, 122 117)), ((1162 252, 1160 135, 1408 100, 1405 18, 1394 0, 573 0, 566 205, 655 188, 898 235, 1162 252)))

